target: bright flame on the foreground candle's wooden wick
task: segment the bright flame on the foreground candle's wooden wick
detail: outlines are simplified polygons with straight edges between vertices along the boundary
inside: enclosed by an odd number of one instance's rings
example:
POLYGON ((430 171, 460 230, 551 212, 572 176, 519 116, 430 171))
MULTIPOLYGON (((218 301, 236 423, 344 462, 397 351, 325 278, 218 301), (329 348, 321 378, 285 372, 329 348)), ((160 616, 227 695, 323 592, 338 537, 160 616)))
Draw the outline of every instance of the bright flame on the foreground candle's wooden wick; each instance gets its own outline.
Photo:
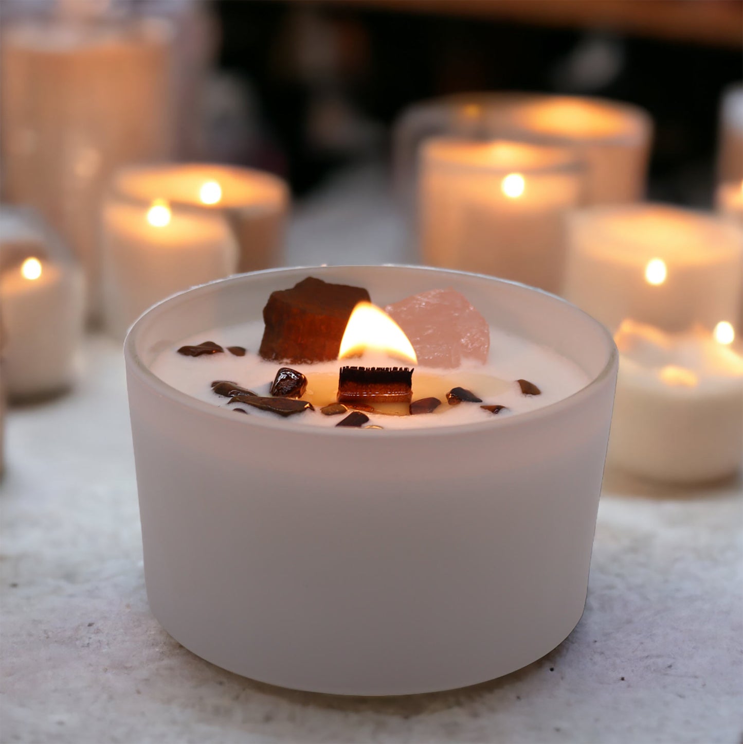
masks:
POLYGON ((338 359, 359 356, 367 349, 411 364, 418 362, 413 344, 402 328, 381 308, 370 302, 359 302, 348 318, 338 359))

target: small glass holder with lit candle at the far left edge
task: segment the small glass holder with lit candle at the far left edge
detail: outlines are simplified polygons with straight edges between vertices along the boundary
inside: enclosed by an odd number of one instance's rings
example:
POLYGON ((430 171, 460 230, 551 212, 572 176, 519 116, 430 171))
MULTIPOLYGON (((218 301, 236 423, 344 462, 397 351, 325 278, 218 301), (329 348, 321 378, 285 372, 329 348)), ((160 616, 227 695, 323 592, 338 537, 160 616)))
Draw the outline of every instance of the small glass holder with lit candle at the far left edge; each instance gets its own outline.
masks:
POLYGON ((10 400, 56 394, 80 369, 81 267, 28 208, 0 210, 2 378, 10 400))

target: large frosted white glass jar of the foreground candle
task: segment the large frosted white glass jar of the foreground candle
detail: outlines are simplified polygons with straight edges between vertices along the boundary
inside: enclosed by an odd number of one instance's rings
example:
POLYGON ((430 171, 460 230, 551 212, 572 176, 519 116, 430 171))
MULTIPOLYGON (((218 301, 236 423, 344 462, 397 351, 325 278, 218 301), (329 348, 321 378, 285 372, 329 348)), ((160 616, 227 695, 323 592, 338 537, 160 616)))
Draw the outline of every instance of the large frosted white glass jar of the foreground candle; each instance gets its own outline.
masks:
MULTIPOLYGON (((170 298, 139 319, 124 355, 147 596, 202 658, 303 690, 419 693, 521 668, 582 615, 617 356, 570 304, 424 267, 281 269, 170 298), (493 364, 521 340, 588 383, 537 410, 447 426, 480 404, 443 403, 451 411, 399 417, 431 425, 379 431, 300 423, 318 411, 235 413, 156 373, 176 339, 193 339, 202 356, 176 356, 202 381, 216 359, 242 381, 260 333, 245 356, 203 342, 222 329, 225 343, 247 343, 239 326, 260 328, 268 298, 308 275, 363 287, 379 307, 450 287, 509 337, 495 334, 493 364)), ((280 362, 270 366, 272 376, 280 362)))

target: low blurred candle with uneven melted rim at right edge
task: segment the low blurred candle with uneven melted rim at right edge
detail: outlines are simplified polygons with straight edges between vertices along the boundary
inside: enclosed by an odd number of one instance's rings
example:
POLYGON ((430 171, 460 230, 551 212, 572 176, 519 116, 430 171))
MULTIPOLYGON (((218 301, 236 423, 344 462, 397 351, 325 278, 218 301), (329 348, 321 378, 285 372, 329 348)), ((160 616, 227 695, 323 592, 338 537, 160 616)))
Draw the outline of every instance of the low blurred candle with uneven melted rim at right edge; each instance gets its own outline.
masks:
POLYGON ((608 460, 660 481, 724 478, 743 451, 743 357, 733 326, 668 334, 625 321, 608 460))

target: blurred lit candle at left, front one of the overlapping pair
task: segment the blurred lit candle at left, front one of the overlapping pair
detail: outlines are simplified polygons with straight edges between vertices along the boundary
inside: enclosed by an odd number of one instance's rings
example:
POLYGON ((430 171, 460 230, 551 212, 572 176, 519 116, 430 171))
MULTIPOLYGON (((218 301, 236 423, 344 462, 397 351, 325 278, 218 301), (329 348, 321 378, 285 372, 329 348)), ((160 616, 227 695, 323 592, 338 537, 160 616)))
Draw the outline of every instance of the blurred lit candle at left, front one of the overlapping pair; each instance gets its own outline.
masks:
POLYGON ((172 211, 164 200, 149 207, 114 197, 103 208, 103 323, 123 339, 155 304, 237 269, 238 251, 218 213, 172 211))

